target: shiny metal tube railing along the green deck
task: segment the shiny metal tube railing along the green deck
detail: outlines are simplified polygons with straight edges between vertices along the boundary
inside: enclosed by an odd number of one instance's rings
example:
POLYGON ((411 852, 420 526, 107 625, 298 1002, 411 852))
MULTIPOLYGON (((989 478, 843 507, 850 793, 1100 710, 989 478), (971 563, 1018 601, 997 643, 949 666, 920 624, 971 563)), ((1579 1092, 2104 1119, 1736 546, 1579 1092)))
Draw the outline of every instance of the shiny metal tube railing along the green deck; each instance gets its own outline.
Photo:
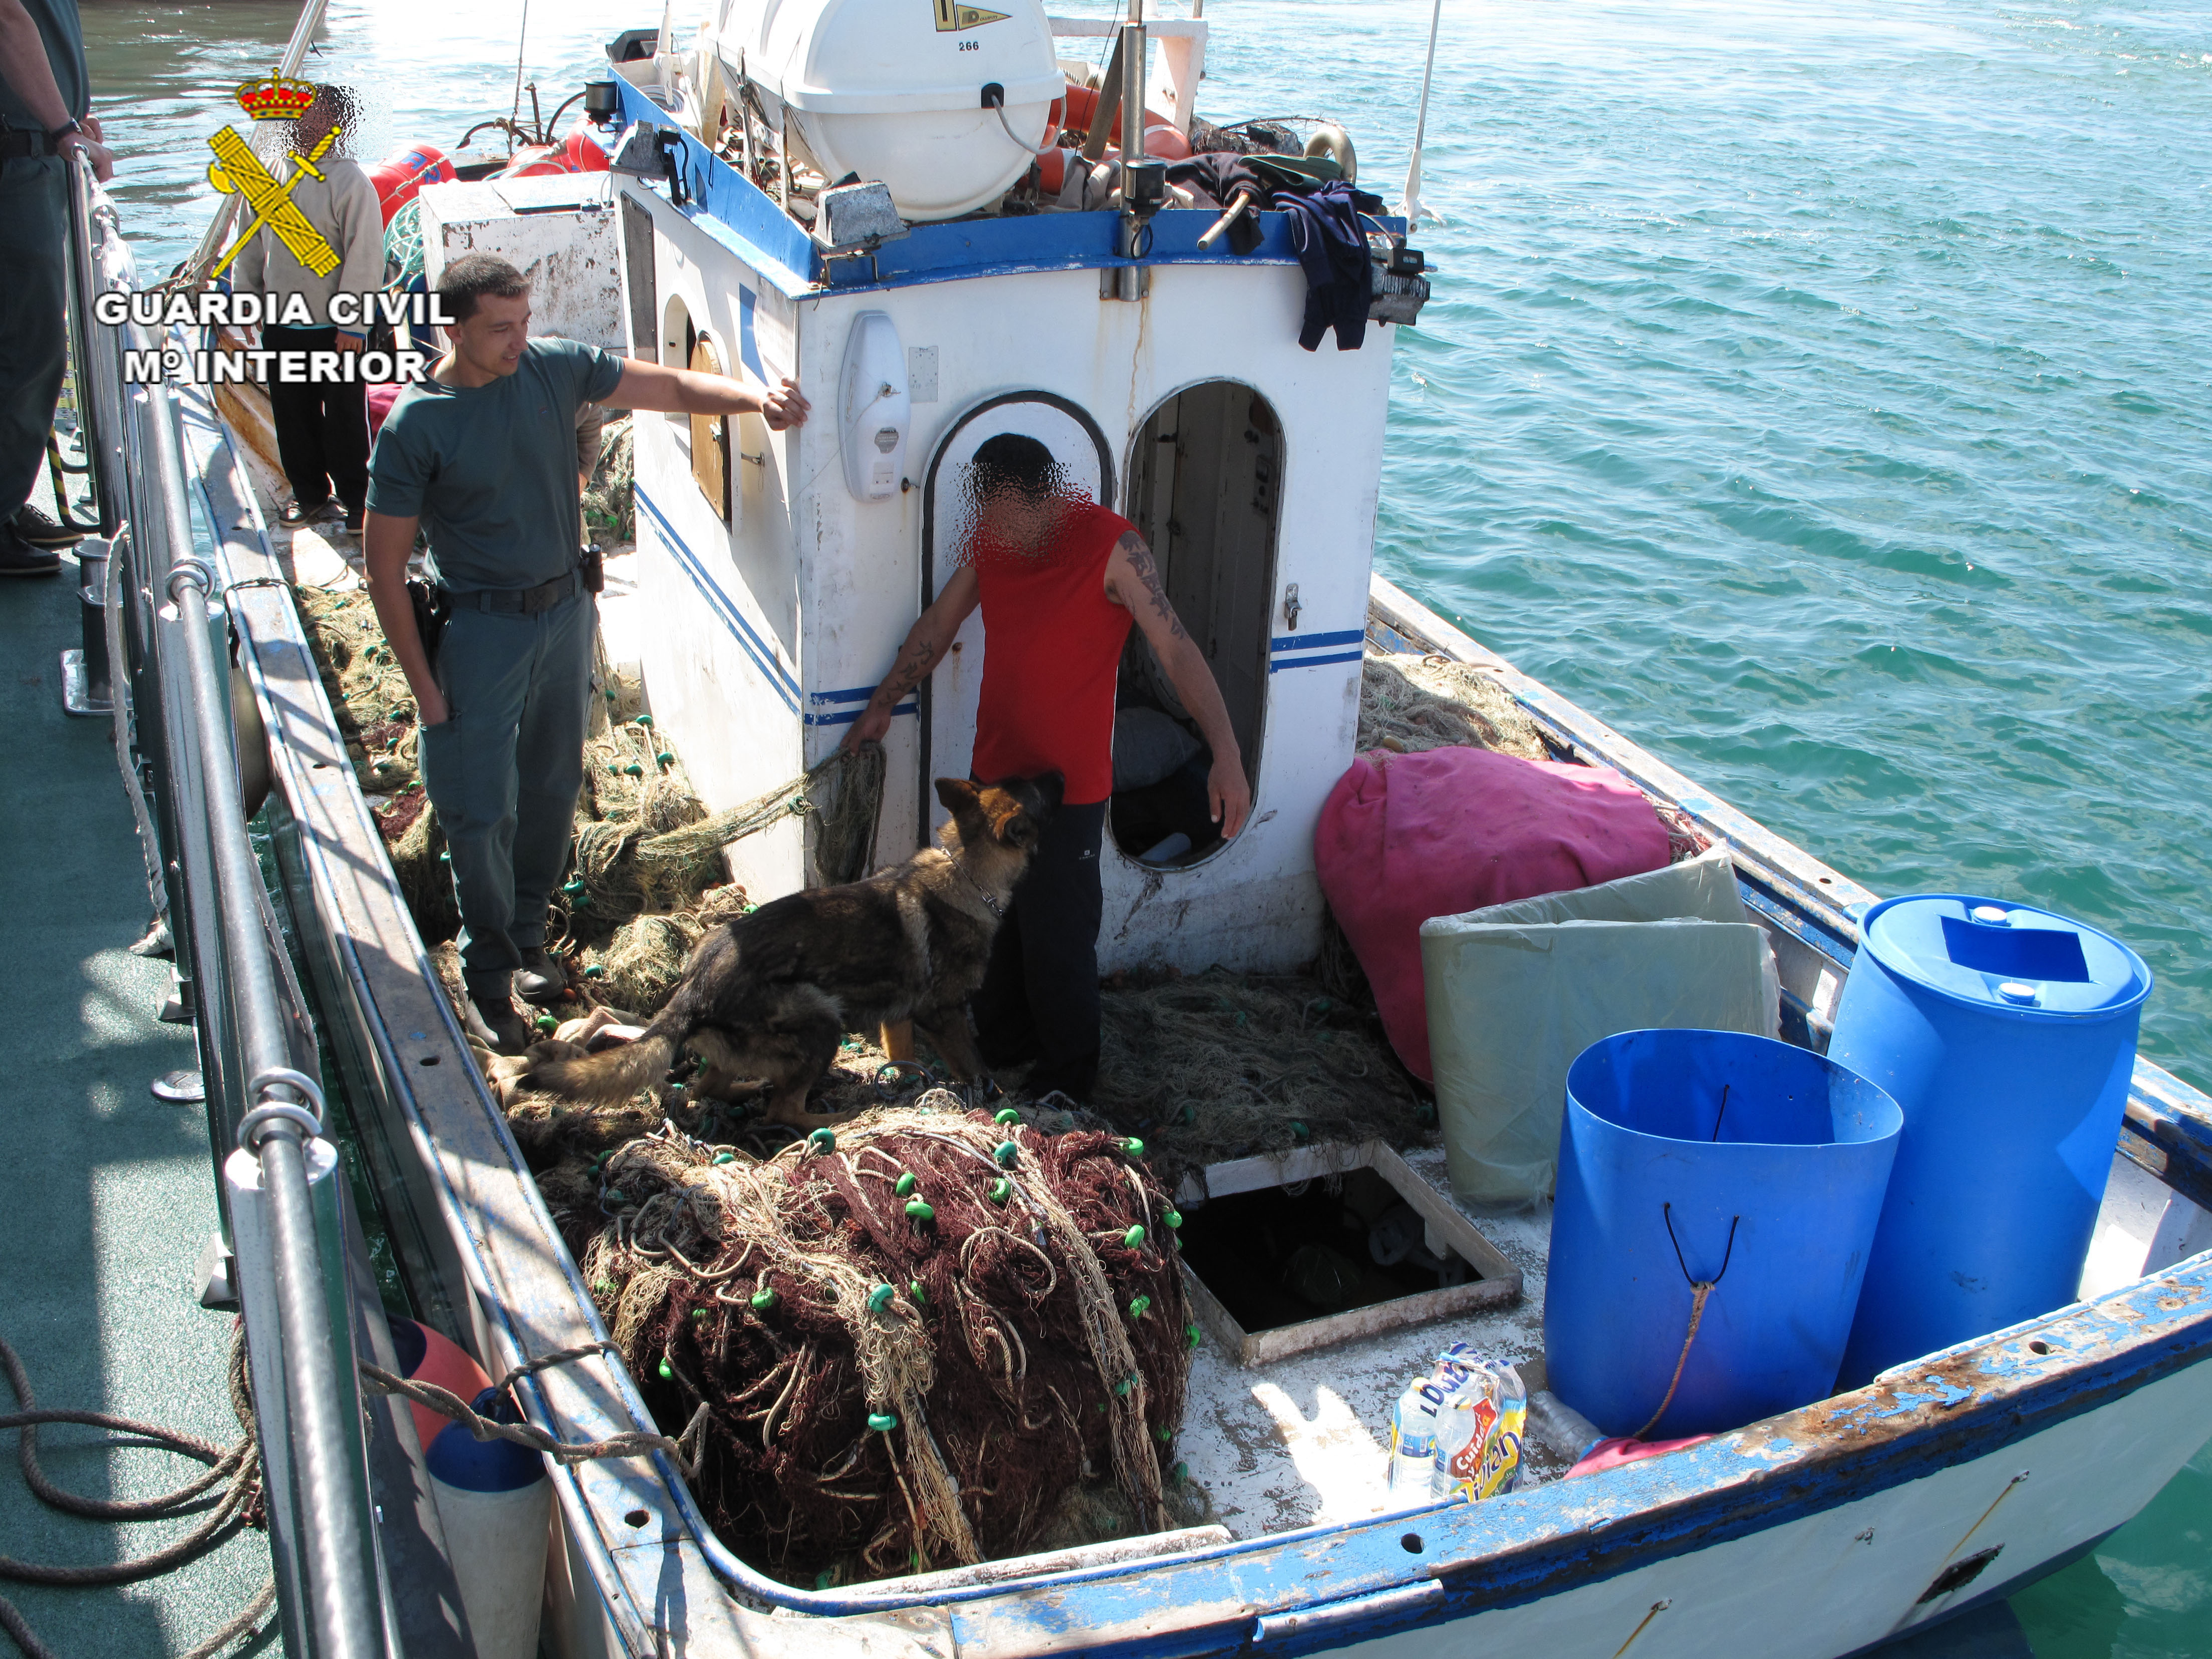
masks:
POLYGON ((301 1020, 283 991, 281 945, 246 832, 215 526, 204 553, 175 396, 161 383, 122 378, 124 349, 148 352, 161 341, 137 323, 93 314, 95 294, 117 288, 128 261, 82 157, 71 161, 71 221, 80 407, 102 526, 115 538, 111 593, 122 606, 124 659, 111 666, 113 686, 131 701, 124 730, 153 805, 179 993, 199 1026, 285 1648, 314 1659, 380 1659, 396 1644, 385 1628, 389 1597, 369 1511, 343 1175, 323 1135, 321 1086, 301 1068, 314 1066, 314 1051, 301 1051, 301 1020))

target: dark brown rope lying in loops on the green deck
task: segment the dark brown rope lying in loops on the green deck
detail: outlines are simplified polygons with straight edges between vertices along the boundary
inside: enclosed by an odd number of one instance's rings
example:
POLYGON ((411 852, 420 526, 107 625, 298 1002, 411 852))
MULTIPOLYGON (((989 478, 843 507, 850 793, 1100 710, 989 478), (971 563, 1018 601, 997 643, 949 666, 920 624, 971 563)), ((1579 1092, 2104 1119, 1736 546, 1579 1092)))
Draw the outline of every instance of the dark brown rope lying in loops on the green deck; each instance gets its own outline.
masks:
MULTIPOLYGON (((164 1429, 157 1422, 139 1422, 135 1418, 119 1418, 106 1411, 40 1409, 38 1398, 31 1394, 31 1376, 22 1369, 22 1360, 4 1338, 0 1338, 0 1371, 7 1374, 9 1389, 15 1394, 15 1402, 20 1407, 18 1411, 0 1413, 0 1431, 22 1431, 15 1440, 15 1462, 22 1467, 24 1484, 42 1504, 60 1509, 69 1515, 113 1522, 170 1520, 204 1504, 215 1504, 212 1513, 190 1533, 153 1555, 139 1555, 128 1562, 102 1562, 97 1566, 49 1566, 0 1555, 0 1579, 69 1588, 137 1584, 142 1579, 159 1577, 161 1573, 184 1566, 186 1562, 197 1562, 201 1555, 208 1555, 230 1542, 230 1537, 243 1526, 259 1524, 261 1451, 254 1442, 252 1396, 248 1394, 246 1383, 243 1327, 230 1349, 230 1409, 239 1418, 243 1436, 228 1449, 217 1447, 212 1440, 181 1433, 179 1429, 164 1429), (161 1493, 159 1498, 84 1498, 82 1493, 55 1486, 40 1467, 38 1429, 46 1422, 77 1422, 131 1436, 133 1440, 204 1462, 208 1464, 208 1473, 197 1475, 184 1486, 161 1493), (221 1495, 210 1498, 217 1486, 221 1486, 221 1495)), ((274 1579, 261 1586, 259 1595, 246 1604, 243 1613, 181 1659, 212 1659, 212 1655, 228 1648, 241 1635, 254 1630, 254 1626, 268 1617, 272 1606, 276 1606, 274 1579)), ((22 1613, 18 1613, 15 1604, 7 1597, 0 1597, 0 1630, 7 1630, 9 1639, 22 1648, 27 1659, 55 1659, 53 1648, 38 1639, 22 1613)))

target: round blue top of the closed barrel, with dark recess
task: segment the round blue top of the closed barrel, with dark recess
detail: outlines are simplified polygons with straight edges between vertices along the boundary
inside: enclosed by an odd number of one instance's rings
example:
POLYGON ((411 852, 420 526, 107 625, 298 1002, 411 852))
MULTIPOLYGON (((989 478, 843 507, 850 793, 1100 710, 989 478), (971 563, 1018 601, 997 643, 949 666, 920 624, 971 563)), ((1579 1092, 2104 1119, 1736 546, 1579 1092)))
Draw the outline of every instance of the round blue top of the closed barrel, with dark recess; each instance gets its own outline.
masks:
POLYGON ((1911 894, 1867 911, 1863 949, 1938 995, 2024 1018, 2126 1013, 2150 969, 2110 933, 2031 905, 1911 894))

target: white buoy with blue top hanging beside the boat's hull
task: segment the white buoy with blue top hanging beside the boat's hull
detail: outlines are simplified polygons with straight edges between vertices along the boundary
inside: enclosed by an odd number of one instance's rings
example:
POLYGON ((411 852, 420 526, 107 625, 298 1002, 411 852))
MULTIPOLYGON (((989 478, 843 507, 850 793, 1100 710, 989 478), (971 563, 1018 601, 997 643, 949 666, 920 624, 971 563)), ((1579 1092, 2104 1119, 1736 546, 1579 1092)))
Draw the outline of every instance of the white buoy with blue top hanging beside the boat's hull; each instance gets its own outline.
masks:
MULTIPOLYGON (((495 1389, 471 1405, 480 1416, 520 1422, 495 1389)), ((511 1440, 478 1440, 467 1425, 449 1422, 425 1462, 478 1659, 533 1659, 553 1513, 544 1458, 511 1440)))

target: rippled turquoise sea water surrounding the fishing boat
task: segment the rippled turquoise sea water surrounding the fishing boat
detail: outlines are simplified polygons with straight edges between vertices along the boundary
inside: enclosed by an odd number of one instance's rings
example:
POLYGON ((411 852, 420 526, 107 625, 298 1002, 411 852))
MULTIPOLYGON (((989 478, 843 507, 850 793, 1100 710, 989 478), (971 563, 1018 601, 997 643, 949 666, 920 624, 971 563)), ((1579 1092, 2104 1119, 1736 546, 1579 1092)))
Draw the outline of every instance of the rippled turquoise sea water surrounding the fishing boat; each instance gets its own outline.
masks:
MULTIPOLYGON (((449 148, 522 13, 334 0, 305 73, 449 148)), ((1425 0, 1206 15, 1201 113, 1334 115, 1396 199, 1425 0)), ((148 272, 292 18, 86 0, 148 272)), ((524 80, 653 22, 531 0, 524 80)), ((1383 571, 1876 891, 2119 933, 2212 1084, 2212 7, 1447 0, 1425 179, 1383 571)), ((2212 1652, 2208 1531, 2199 1458, 2015 1597, 2039 1659, 2212 1652)))

